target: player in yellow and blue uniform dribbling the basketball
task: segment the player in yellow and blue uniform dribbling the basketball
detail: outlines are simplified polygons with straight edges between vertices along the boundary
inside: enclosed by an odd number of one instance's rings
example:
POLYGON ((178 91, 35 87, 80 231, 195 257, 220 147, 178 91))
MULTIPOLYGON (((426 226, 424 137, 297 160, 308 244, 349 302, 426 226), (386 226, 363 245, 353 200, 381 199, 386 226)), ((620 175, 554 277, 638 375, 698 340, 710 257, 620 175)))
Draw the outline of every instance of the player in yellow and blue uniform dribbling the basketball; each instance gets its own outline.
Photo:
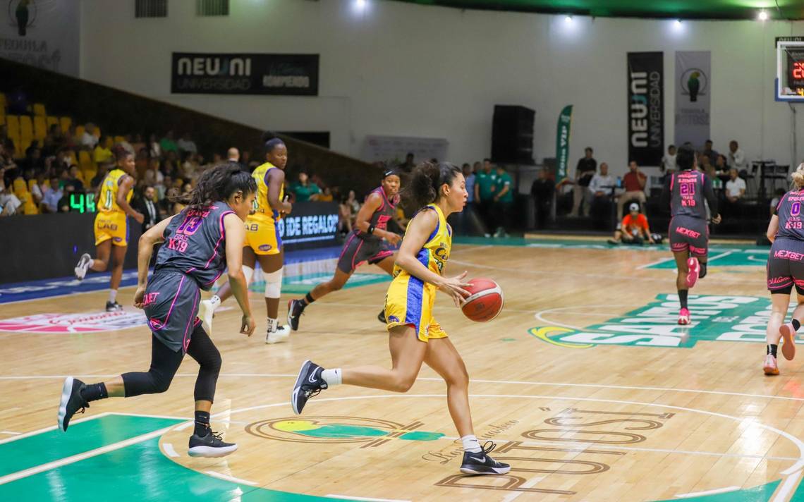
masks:
POLYGON ((395 277, 386 296, 392 369, 379 366, 323 369, 305 361, 291 394, 293 411, 301 414, 309 398, 341 383, 407 392, 425 362, 447 384, 449 414, 464 448, 461 472, 505 474, 511 467, 488 455, 494 443, 481 447, 474 435, 466 366, 447 333, 433 318, 437 290, 452 296, 457 306, 469 296, 464 289, 469 285, 464 282, 466 272, 449 278, 442 275, 452 247, 452 229, 446 218, 463 209, 468 197, 463 174, 449 163, 425 162, 416 166, 405 191, 420 210, 408 224, 396 256, 395 277))

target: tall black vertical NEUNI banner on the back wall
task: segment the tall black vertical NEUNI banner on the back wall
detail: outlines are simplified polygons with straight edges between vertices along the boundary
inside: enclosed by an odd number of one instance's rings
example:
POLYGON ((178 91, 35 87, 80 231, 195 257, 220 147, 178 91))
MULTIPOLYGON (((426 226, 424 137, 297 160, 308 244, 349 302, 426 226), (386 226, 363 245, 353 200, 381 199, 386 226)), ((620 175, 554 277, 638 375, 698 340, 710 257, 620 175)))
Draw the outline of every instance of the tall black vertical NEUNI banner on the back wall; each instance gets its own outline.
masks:
POLYGON ((664 54, 628 53, 628 160, 659 165, 664 155, 664 54))

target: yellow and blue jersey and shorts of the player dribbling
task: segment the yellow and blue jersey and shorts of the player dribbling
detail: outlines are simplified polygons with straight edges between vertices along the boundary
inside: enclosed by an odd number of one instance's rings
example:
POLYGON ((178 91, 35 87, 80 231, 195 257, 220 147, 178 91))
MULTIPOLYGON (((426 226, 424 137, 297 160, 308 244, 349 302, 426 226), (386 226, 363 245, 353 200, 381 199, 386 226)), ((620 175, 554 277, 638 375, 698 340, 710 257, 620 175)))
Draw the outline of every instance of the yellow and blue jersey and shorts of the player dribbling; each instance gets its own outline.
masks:
MULTIPOLYGON (((443 275, 449 251, 452 249, 452 228, 441 208, 435 204, 421 210, 436 211, 438 223, 425 245, 416 253, 416 259, 430 271, 443 275)), ((445 338, 447 334, 433 318, 436 291, 435 284, 420 280, 396 265, 394 280, 388 287, 385 299, 386 327, 392 329, 396 326, 412 326, 416 329, 416 336, 425 342, 431 338, 445 338)))

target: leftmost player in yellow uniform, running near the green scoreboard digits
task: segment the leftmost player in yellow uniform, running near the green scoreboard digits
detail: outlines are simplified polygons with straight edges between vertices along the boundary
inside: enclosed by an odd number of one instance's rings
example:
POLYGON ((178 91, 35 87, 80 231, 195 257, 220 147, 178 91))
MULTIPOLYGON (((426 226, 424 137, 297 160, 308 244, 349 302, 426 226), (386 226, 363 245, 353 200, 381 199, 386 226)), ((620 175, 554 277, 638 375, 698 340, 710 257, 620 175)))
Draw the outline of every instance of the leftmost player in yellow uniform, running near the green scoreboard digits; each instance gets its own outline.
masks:
POLYGON ((95 249, 97 258, 92 259, 88 253, 81 255, 76 264, 77 280, 84 280, 87 271, 102 272, 109 268, 109 260, 113 261, 112 278, 109 280, 109 300, 106 302, 106 312, 117 312, 123 309, 117 303, 117 288, 123 278, 123 262, 125 251, 129 248, 129 221, 131 216, 138 223, 145 217, 129 206, 133 195, 134 176, 137 170, 134 166, 133 153, 123 149, 117 150, 115 169, 106 174, 100 182, 98 193, 95 194, 98 214, 95 217, 95 249), (110 256, 111 255, 111 256, 110 256))

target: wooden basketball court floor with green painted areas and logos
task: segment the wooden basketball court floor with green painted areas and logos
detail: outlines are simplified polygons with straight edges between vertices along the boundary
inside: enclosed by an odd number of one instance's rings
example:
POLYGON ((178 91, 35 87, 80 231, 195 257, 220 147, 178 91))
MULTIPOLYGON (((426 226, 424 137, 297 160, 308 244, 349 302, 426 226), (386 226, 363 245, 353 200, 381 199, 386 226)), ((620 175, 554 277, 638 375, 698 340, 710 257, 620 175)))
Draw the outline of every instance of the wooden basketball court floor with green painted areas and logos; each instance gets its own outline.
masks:
MULTIPOLYGON (((445 385, 428 368, 408 394, 338 386, 293 416, 306 358, 389 364, 375 317, 387 282, 375 282, 313 304, 283 345, 238 334, 234 302, 219 311, 213 428, 240 445, 224 459, 187 456, 189 357, 165 394, 92 403, 54 430, 65 375, 147 369, 142 325, 0 333, 0 500, 804 500, 804 354, 781 359, 777 377, 761 370, 766 248, 713 247, 681 328, 666 247, 489 243, 455 246, 448 273, 497 280, 502 314, 472 323, 446 296, 435 312, 466 360, 477 435, 510 475, 459 473, 445 385)), ((98 312, 105 294, 0 304, 0 319, 98 312)), ((252 305, 261 332, 260 293, 252 305)))

